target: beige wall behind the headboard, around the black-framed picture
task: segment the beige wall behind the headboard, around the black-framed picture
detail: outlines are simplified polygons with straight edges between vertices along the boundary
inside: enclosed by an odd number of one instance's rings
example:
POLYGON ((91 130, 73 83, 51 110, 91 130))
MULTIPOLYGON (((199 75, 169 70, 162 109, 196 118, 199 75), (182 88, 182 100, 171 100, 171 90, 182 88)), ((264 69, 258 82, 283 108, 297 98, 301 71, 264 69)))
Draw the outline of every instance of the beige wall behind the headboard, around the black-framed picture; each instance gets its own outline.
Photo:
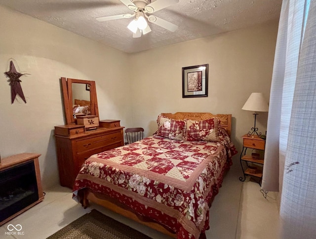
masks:
MULTIPOLYGON (((232 137, 254 124, 253 112, 241 110, 252 92, 269 99, 277 23, 178 43, 130 56, 133 62, 133 123, 147 135, 157 129, 160 112, 212 112, 233 115, 232 137), (208 97, 182 98, 182 67, 209 64, 208 97)), ((265 134, 268 113, 257 116, 265 134)))

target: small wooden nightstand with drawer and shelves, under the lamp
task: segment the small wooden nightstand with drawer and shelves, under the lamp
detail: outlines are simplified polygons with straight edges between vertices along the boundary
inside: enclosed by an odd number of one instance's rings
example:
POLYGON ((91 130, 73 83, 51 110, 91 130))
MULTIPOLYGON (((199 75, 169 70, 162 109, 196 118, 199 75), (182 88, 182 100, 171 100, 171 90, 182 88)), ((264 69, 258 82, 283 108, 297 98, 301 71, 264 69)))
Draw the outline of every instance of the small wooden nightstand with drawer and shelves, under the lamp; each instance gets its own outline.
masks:
POLYGON ((247 135, 242 136, 242 138, 243 144, 240 154, 240 165, 243 177, 239 177, 239 180, 243 182, 246 179, 246 175, 249 175, 261 186, 266 140, 258 136, 247 135), (256 149, 259 153, 257 155, 252 155, 252 153, 247 154, 248 149, 256 149))

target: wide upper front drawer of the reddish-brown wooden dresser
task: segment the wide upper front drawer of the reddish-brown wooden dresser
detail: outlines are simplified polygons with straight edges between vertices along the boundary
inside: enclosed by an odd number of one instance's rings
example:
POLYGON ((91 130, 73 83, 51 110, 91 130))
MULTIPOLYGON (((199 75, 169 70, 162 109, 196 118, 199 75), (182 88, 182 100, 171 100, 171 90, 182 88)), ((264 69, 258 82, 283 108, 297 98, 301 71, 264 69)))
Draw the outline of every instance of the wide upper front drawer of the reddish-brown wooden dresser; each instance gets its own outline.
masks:
POLYGON ((121 141, 120 132, 77 140, 77 153, 93 150, 96 148, 102 148, 104 146, 111 145, 118 141, 121 141))

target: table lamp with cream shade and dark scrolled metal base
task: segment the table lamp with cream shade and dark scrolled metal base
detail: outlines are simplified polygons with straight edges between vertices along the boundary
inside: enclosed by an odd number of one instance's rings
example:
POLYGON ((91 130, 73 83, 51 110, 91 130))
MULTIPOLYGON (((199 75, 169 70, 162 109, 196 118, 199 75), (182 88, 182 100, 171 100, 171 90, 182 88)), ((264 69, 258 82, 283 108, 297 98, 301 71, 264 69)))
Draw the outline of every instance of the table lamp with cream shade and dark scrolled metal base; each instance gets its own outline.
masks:
POLYGON ((245 104, 242 106, 243 110, 250 110, 254 111, 255 116, 255 125, 253 128, 251 128, 251 132, 249 131, 247 136, 251 136, 256 134, 257 136, 261 136, 261 132, 258 133, 258 128, 256 128, 256 117, 257 112, 268 112, 269 106, 266 102, 265 98, 263 97, 262 93, 251 93, 248 100, 245 102, 245 104))

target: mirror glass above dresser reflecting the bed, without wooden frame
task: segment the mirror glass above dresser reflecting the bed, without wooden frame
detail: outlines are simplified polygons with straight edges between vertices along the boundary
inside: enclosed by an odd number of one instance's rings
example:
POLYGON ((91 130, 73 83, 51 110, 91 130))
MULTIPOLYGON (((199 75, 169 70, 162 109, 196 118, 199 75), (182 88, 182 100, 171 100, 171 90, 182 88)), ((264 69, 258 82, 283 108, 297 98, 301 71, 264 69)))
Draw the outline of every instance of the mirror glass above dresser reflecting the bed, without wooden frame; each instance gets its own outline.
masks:
POLYGON ((90 89, 88 84, 72 83, 73 116, 91 115, 90 89))

